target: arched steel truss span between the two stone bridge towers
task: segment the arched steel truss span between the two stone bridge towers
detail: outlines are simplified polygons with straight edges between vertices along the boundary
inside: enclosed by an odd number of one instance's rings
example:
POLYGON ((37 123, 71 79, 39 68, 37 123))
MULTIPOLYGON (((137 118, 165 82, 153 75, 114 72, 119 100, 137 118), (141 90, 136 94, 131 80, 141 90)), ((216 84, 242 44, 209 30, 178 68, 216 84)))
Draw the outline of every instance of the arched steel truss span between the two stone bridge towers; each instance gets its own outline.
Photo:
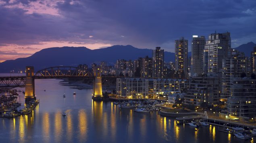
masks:
POLYGON ((92 73, 73 66, 54 66, 39 70, 35 78, 92 77, 92 73))

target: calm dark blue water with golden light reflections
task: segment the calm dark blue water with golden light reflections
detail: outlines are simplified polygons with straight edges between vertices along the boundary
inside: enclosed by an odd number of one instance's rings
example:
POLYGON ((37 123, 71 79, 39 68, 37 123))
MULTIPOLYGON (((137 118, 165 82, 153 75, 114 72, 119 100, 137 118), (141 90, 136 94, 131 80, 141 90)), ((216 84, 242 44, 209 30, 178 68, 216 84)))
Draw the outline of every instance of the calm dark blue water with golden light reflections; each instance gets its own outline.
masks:
MULTIPOLYGON (((137 113, 130 109, 121 110, 111 102, 94 102, 92 89, 71 89, 61 86, 59 81, 35 80, 35 93, 40 104, 32 115, 0 118, 0 142, 244 142, 219 132, 218 126, 195 130, 188 125, 177 125, 173 118, 162 117, 157 112, 137 113), (64 92, 66 98, 62 97, 64 92), (73 92, 77 94, 73 95, 73 92), (62 112, 66 112, 67 117, 63 117, 62 112)), ((20 95, 24 103, 24 94, 20 95)))

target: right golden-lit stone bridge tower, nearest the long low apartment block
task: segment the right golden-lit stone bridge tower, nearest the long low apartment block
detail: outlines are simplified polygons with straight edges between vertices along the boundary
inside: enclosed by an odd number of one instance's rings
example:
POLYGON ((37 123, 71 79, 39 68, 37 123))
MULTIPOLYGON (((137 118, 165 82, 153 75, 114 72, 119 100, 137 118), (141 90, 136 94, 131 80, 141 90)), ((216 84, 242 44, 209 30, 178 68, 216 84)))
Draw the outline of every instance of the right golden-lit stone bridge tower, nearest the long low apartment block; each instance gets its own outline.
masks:
POLYGON ((101 68, 100 66, 94 66, 94 93, 92 99, 102 100, 102 80, 101 80, 101 68))

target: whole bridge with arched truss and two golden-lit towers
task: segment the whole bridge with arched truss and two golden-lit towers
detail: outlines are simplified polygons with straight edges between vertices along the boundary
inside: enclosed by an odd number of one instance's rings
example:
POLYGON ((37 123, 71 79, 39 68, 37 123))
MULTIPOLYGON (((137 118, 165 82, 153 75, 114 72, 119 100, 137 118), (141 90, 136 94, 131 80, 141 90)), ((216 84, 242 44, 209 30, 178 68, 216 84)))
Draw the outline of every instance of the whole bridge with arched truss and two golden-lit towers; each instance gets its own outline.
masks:
MULTIPOLYGON (((25 86, 25 100, 29 102, 35 99, 35 79, 63 79, 63 78, 86 78, 94 81, 93 99, 102 99, 102 76, 100 66, 95 66, 93 72, 79 69, 74 66, 54 66, 44 68, 34 74, 33 66, 26 66, 26 76, 0 77, 0 87, 25 86)), ((104 76, 103 82, 116 77, 104 76)))

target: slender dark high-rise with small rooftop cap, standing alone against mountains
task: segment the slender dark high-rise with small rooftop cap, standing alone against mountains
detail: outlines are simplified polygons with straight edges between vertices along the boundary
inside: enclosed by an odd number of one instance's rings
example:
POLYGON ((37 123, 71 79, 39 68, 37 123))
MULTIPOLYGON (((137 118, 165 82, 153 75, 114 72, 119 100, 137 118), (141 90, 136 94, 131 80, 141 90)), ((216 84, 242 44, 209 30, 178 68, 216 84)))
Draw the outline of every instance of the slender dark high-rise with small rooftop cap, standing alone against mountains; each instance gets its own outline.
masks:
POLYGON ((153 59, 153 68, 152 73, 153 77, 162 78, 164 77, 164 50, 161 50, 160 47, 156 47, 155 50, 152 51, 152 59, 153 59))

